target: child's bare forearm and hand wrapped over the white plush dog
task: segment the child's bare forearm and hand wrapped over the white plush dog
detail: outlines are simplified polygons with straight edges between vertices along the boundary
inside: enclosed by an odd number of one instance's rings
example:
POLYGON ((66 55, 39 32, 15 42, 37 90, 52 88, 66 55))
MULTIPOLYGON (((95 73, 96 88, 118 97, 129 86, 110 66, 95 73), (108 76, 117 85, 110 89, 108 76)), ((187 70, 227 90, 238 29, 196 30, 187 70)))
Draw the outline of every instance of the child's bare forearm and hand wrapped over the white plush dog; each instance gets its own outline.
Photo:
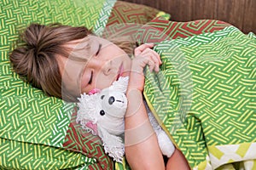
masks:
POLYGON ((127 88, 128 108, 125 114, 125 156, 131 169, 165 169, 154 129, 148 120, 143 104, 143 68, 159 71, 159 54, 152 44, 143 44, 135 49, 127 88))

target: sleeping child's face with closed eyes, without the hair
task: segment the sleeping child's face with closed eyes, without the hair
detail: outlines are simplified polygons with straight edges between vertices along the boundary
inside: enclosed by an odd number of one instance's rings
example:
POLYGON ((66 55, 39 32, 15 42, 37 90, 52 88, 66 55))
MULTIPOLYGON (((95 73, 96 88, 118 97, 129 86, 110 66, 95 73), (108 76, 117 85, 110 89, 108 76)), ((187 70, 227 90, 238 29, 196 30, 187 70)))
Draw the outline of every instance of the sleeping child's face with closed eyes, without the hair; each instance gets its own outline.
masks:
POLYGON ((58 56, 57 61, 62 86, 72 94, 79 96, 94 88, 108 88, 120 76, 129 76, 130 57, 108 40, 89 35, 66 46, 73 49, 70 56, 76 59, 58 56))

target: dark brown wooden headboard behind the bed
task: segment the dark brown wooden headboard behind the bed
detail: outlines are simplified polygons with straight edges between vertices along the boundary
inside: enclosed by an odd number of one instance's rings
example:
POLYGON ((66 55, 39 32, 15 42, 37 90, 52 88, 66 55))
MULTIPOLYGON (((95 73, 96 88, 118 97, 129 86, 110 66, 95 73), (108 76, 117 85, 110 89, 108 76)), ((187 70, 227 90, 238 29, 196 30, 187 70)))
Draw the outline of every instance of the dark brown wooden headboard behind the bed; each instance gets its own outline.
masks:
POLYGON ((159 8, 172 14, 171 20, 223 20, 244 33, 256 32, 255 0, 123 0, 159 8))

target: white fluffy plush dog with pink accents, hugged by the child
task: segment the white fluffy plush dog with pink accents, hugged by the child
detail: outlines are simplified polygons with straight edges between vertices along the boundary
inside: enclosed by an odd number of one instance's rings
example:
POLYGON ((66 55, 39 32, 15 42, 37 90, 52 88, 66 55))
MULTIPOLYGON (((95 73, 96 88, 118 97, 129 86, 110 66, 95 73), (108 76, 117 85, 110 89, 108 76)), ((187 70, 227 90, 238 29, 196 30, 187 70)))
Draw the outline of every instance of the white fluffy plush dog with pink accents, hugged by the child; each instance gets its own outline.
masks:
MULTIPOLYGON (((81 94, 77 122, 102 139, 103 147, 114 161, 122 162, 125 144, 121 135, 125 132, 125 111, 127 99, 125 92, 129 77, 119 77, 109 88, 95 94, 81 94)), ((165 156, 172 156, 175 150, 172 141, 148 110, 148 118, 157 135, 160 150, 165 156)))

